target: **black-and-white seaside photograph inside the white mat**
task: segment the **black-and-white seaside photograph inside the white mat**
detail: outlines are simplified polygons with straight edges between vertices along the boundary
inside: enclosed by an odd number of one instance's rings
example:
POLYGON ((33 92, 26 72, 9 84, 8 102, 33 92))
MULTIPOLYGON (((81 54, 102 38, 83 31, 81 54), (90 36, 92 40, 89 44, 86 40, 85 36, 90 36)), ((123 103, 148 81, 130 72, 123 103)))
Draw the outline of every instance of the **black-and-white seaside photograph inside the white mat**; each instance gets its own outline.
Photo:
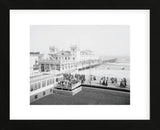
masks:
POLYGON ((129 25, 30 25, 30 105, 130 105, 129 25))

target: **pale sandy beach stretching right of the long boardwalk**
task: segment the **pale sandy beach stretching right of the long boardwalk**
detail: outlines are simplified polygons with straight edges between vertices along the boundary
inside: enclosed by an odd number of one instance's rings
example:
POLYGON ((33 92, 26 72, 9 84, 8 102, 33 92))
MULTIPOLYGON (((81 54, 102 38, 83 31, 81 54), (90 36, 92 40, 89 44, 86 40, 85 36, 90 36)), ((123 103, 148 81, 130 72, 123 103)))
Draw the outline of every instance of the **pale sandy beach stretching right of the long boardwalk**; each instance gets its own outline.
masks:
POLYGON ((130 63, 128 60, 118 59, 117 62, 104 63, 94 68, 78 71, 78 73, 86 76, 94 75, 97 78, 105 76, 130 80, 130 63))

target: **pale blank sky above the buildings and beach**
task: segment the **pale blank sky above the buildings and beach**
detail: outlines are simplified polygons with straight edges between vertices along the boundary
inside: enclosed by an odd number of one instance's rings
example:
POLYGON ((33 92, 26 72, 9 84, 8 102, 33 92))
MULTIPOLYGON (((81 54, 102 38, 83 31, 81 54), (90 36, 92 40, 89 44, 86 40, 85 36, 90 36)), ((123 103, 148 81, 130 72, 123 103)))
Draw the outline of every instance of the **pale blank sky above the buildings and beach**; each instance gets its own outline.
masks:
POLYGON ((30 51, 49 52, 49 46, 91 50, 102 56, 130 55, 128 25, 31 25, 30 51))

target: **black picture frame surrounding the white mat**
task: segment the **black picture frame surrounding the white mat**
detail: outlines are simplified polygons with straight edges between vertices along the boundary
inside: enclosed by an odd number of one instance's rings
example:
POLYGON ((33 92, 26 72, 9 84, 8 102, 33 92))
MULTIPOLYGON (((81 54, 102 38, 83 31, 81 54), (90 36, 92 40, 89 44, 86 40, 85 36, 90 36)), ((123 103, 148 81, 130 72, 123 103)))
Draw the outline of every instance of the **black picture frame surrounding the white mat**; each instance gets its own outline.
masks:
MULTIPOLYGON (((2 67, 1 70, 3 72, 2 75, 2 85, 1 85, 1 129, 49 129, 49 128, 74 128, 77 127, 80 129, 84 129, 85 127, 96 128, 96 129, 126 129, 126 130, 142 130, 142 129, 160 129, 160 120, 159 120, 159 91, 158 88, 158 80, 153 78, 153 74, 156 75, 156 68, 158 68, 157 57, 153 56, 156 52, 158 52, 158 48, 156 44, 158 43, 158 25, 160 14, 158 13, 158 0, 146 0, 146 1, 127 1, 127 0, 101 0, 101 1, 63 1, 63 0, 1 0, 0 1, 0 14, 1 14, 1 56, 2 56, 2 67), (152 71, 150 74, 150 81, 152 87, 150 87, 150 120, 99 120, 99 121, 86 121, 86 120, 10 120, 10 32, 9 32, 9 10, 10 9, 49 9, 49 10, 73 10, 73 9, 95 9, 95 10, 107 10, 107 9, 147 9, 150 10, 150 46, 154 49, 152 51, 152 56, 150 57, 150 61, 152 63, 152 71), (153 48, 154 47, 154 48, 153 48), (157 50, 156 50, 157 49, 157 50), (153 53, 154 52, 154 53, 153 53), (156 58, 156 59, 155 59, 156 58), (153 68, 154 65, 154 68, 153 68), (105 127, 105 128, 103 128, 105 127)), ((17 47, 18 48, 18 47, 17 47)), ((158 75, 156 75, 158 76, 158 75)))

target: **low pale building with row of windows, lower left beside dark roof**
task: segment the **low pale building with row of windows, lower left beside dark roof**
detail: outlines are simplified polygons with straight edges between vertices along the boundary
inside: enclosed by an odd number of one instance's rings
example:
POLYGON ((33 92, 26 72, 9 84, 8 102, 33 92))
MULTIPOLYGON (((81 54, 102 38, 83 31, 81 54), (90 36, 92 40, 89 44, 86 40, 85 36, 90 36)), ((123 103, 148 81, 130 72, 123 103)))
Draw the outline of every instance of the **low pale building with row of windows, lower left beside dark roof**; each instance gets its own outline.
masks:
POLYGON ((41 73, 41 75, 30 77, 30 103, 53 93, 53 88, 58 81, 63 79, 63 75, 53 75, 51 73, 41 73))

